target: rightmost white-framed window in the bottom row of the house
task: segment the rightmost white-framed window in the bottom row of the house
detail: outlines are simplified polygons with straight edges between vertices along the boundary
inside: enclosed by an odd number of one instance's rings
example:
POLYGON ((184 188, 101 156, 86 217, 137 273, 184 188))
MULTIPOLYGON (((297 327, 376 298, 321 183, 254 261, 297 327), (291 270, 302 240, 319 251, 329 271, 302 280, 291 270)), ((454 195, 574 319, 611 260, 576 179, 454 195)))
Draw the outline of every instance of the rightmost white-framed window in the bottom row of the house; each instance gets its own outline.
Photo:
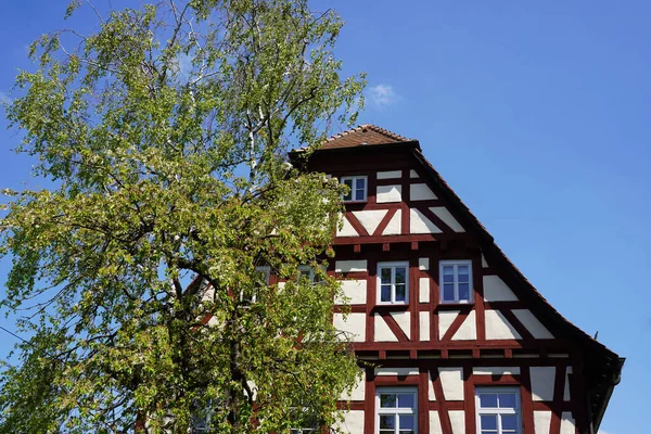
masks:
POLYGON ((516 387, 477 387, 480 434, 521 434, 520 391, 516 387))

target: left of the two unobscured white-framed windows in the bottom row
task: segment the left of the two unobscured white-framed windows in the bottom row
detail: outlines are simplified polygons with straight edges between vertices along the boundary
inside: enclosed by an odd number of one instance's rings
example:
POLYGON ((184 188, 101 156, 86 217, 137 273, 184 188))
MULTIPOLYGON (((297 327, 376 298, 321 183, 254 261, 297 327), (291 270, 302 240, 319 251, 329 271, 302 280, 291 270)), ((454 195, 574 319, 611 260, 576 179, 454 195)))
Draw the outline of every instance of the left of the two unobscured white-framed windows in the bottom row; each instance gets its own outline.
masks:
POLYGON ((418 431, 416 388, 378 388, 375 426, 378 434, 416 434, 418 431))

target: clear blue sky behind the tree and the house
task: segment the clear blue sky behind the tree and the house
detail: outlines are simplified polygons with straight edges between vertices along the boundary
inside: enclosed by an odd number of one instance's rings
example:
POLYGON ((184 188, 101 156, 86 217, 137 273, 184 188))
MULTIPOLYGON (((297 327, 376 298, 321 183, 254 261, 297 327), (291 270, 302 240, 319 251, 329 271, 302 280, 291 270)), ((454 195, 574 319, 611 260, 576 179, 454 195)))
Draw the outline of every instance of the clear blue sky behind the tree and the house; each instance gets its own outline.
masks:
MULTIPOLYGON (((12 98, 17 68, 31 68, 28 44, 67 25, 66 4, 3 2, 0 100, 12 98)), ((344 73, 368 74, 360 123, 418 139, 539 292, 627 358, 600 433, 648 432, 651 3, 312 7, 346 21, 336 54, 344 73)), ((0 114, 0 188, 33 186, 31 162, 10 151, 20 135, 5 127, 0 114)), ((0 281, 9 265, 0 264, 0 281)), ((0 355, 12 344, 0 334, 0 355)))

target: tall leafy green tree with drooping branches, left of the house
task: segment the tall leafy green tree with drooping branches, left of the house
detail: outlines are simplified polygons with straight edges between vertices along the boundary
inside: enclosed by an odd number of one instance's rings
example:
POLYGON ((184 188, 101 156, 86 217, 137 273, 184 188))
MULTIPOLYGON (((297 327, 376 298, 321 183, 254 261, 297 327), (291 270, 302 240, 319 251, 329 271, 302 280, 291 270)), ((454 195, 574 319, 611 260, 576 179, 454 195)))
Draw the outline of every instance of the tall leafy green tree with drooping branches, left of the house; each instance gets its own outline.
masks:
POLYGON ((355 120, 363 76, 340 78, 341 18, 307 0, 97 16, 92 35, 35 42, 7 107, 53 187, 5 192, 1 306, 27 309, 29 339, 1 372, 0 432, 332 424, 358 375, 322 268, 342 190, 286 151, 355 120))

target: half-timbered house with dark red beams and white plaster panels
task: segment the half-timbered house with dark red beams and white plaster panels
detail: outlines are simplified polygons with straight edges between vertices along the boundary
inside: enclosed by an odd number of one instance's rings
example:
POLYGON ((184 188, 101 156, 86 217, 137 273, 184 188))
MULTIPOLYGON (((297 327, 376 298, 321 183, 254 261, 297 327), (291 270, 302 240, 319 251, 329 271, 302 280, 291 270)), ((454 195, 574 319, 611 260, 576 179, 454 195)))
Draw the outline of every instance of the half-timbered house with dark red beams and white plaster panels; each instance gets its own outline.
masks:
POLYGON ((329 270, 350 309, 333 321, 371 365, 345 432, 597 432, 624 359, 547 303, 417 140, 360 126, 307 169, 350 190, 329 270))

